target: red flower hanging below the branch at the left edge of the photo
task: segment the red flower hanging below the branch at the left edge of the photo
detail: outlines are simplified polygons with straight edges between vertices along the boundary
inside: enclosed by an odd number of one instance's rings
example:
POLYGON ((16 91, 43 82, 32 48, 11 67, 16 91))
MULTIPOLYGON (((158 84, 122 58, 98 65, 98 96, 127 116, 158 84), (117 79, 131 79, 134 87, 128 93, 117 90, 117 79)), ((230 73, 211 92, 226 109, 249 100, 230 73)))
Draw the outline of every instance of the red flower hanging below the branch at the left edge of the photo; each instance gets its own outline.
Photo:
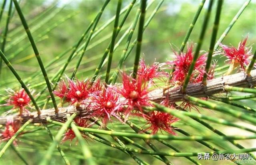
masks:
MULTIPOLYGON (((5 128, 0 134, 0 141, 6 141, 12 138, 19 128, 20 122, 14 122, 13 120, 7 119, 5 128)), ((16 141, 13 141, 13 144, 17 145, 16 141)))

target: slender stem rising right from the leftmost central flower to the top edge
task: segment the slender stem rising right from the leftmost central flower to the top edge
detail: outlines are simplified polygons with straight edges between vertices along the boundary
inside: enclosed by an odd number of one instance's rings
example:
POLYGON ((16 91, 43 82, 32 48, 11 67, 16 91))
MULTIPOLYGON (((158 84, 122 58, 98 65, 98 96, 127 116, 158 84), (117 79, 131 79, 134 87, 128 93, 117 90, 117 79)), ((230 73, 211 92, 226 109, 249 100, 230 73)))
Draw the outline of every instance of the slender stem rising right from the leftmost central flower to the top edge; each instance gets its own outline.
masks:
MULTIPOLYGON (((106 0, 105 3, 108 4, 109 1, 110 0, 106 0)), ((96 26, 98 25, 98 22, 100 20, 100 17, 102 16, 103 10, 104 10, 104 8, 102 8, 100 10, 100 12, 98 13, 97 18, 96 18, 96 20, 94 22, 94 25, 92 26, 92 29, 91 29, 91 31, 90 31, 87 39, 86 39, 84 48, 82 49, 82 53, 80 54, 78 62, 76 63, 76 67, 74 68, 74 72, 72 73, 71 80, 73 80, 74 77, 76 76, 76 71, 77 71, 77 69, 78 69, 78 67, 79 67, 79 65, 80 65, 80 63, 82 61, 82 58, 84 57, 84 53, 86 51, 86 48, 87 48, 87 46, 88 46, 88 44, 89 44, 89 42, 91 40, 92 34, 94 33, 94 30, 96 29, 96 26)))

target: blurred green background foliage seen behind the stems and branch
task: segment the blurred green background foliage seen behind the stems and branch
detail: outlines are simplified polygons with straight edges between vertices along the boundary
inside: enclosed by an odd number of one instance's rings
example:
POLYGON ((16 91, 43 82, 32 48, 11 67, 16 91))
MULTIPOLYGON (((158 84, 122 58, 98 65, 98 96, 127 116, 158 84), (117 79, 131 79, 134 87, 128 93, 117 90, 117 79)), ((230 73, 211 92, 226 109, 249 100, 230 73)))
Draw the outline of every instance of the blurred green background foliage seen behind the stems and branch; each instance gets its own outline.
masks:
MULTIPOLYGON (((36 40, 36 45, 38 46, 41 58, 44 64, 49 63, 65 52, 69 47, 74 45, 80 39, 82 33, 96 16, 100 7, 102 6, 104 1, 102 0, 22 0, 20 2, 20 6, 22 6, 22 12, 25 15, 26 20, 29 22, 30 29, 32 30, 32 35, 36 40), (60 20, 66 19, 69 15, 74 15, 71 18, 68 18, 66 21, 59 24, 60 20), (44 34, 45 31, 51 26, 56 26, 56 28, 50 30, 47 34, 44 34), (44 34, 44 35, 42 35, 44 34)), ((98 27, 104 25, 110 18, 115 15, 116 12, 116 0, 112 0, 106 9, 103 12, 102 18, 98 24, 98 27)), ((122 7, 128 5, 131 1, 124 0, 122 7)), ((146 13, 146 18, 150 16, 156 5, 160 2, 159 0, 155 0, 155 2, 150 6, 146 13)), ((242 4, 245 0, 235 1, 235 0, 225 0, 224 5, 222 7, 222 15, 220 18, 220 28, 218 31, 217 38, 220 37, 222 32, 228 27, 231 20, 234 18, 238 10, 241 8, 242 4)), ((172 47, 174 50, 178 50, 184 39, 184 35, 188 30, 190 23, 194 17, 194 14, 197 11, 200 0, 165 0, 162 4, 160 10, 158 10, 156 16, 150 22, 148 28, 144 32, 143 35, 143 43, 142 43, 142 53, 146 63, 152 63, 154 61, 157 62, 165 62, 166 60, 172 59, 172 47)), ((2 1, 0 1, 2 4, 2 1)), ((2 18, 2 22, 0 24, 1 31, 4 30, 5 20, 7 16, 9 2, 6 3, 6 9, 4 10, 4 15, 2 18)), ((202 21, 204 18, 204 13, 207 8, 208 1, 204 5, 202 13, 198 18, 198 22, 196 23, 192 34, 189 39, 189 43, 196 43, 199 37, 199 33, 202 26, 202 21)), ((139 6, 135 6, 132 9, 132 12, 129 14, 126 23, 124 24, 121 33, 118 35, 118 39, 124 34, 124 31, 130 26, 132 23, 135 12, 139 6)), ((207 51, 210 45, 210 38, 212 33, 212 25, 214 22, 215 15, 215 7, 216 3, 213 6, 212 15, 210 17, 210 22, 208 25, 208 29, 206 31, 206 36, 204 40, 204 44, 202 46, 202 50, 207 51)), ((240 18, 237 20, 234 27, 225 37, 222 43, 228 45, 234 45, 237 47, 238 43, 242 38, 249 35, 248 45, 252 45, 253 51, 255 50, 256 42, 256 1, 252 0, 246 10, 242 13, 240 18)), ((124 14, 121 16, 120 20, 122 20, 124 14)), ((6 52, 5 55, 10 62, 13 64, 14 68, 18 71, 23 79, 26 79, 30 75, 32 75, 35 71, 38 71, 40 68, 38 66, 38 62, 34 57, 32 48, 29 45, 29 41, 26 37, 26 33, 20 23, 20 19, 16 12, 14 12, 14 16, 10 22, 10 32, 8 33, 7 43, 6 43, 6 52)), ((136 27, 136 31, 137 31, 136 27)), ((97 28, 98 29, 98 28, 97 28)), ((96 30, 97 30, 96 29, 96 30)), ((77 77, 78 78, 87 78, 91 77, 96 69, 101 56, 103 55, 108 43, 111 40, 113 29, 113 23, 110 24, 106 29, 104 29, 97 37, 90 41, 89 47, 92 47, 88 51, 85 52, 82 63, 78 69, 77 77), (95 47, 95 43, 100 42, 95 47)), ((136 38, 137 33, 134 33, 133 39, 136 38)), ((132 39, 132 41, 133 41, 132 39)), ((114 69, 119 61, 120 55, 122 53, 122 49, 126 43, 126 38, 120 43, 118 49, 114 52, 114 59, 112 62, 112 69, 114 69)), ((133 50, 129 56, 129 58, 125 62, 124 68, 132 67, 134 62, 135 51, 133 50)), ((47 68, 48 75, 51 78, 54 73, 60 69, 60 67, 66 61, 70 51, 64 55, 58 62, 53 63, 50 67, 47 68)), ((74 66, 77 62, 77 57, 70 63, 68 69, 65 71, 65 74, 70 76, 72 71, 74 70, 74 66)), ((215 57, 219 61, 218 65, 222 66, 225 57, 220 58, 220 56, 215 57)), ((102 73, 104 73, 104 69, 102 73)), ((104 74, 103 74, 104 75, 104 74)), ((43 82, 42 75, 38 75, 35 79, 32 79, 28 82, 30 86, 40 84, 43 82)), ((14 79, 12 73, 3 65, 3 73, 0 78, 0 94, 6 95, 6 88, 19 88, 19 84, 16 79, 14 79)), ((43 86, 37 85, 34 89, 39 92, 43 86)), ((4 96, 2 96, 4 98, 4 96)), ((4 99, 1 99, 3 102, 4 99)), ((50 107, 50 106, 49 106, 50 107)), ((3 109, 2 109, 3 110, 3 109)), ((210 112, 211 113, 211 112, 210 112)), ((142 124, 143 125, 143 124, 142 124)), ((54 127, 53 132, 56 132, 56 128, 54 127)), ((25 136, 29 138, 34 138, 36 141, 40 143, 46 143, 49 140, 49 137, 45 132, 39 132, 38 134, 33 134, 33 137, 25 136), (44 142, 42 142, 44 141, 44 142)), ((28 140, 27 139, 27 140, 28 140)), ((29 141, 29 140, 28 140, 29 141)), ((28 141, 26 143, 28 143, 28 141)), ((138 141, 142 143, 142 140, 138 141)), ((90 149, 94 155, 98 155, 102 158, 97 158, 100 164, 106 164, 106 156, 109 157, 108 164, 134 164, 134 161, 127 157, 124 153, 112 149, 110 147, 106 147, 105 145, 98 144, 92 141, 88 141, 90 149), (114 161, 113 157, 118 158, 118 160, 114 161), (114 162, 110 162, 112 160, 114 162), (119 160, 122 160, 118 163, 119 160)), ((142 143, 143 144, 143 143, 142 143)), ((49 145, 49 144, 48 144, 49 145)), ((20 146, 20 151, 26 152, 28 154, 25 155, 27 160, 33 164, 33 162, 38 162, 42 157, 42 150, 47 149, 48 145, 45 147, 39 146, 37 149, 33 149, 29 146, 20 146), (41 150, 40 150, 41 149, 41 150), (30 156, 31 155, 31 156, 30 156)), ((78 144, 79 145, 79 144, 78 144)), ((176 145, 182 151, 205 151, 206 147, 200 147, 196 142, 186 141, 179 143, 179 141, 175 141, 174 145, 176 145), (192 145, 193 143, 193 145, 192 145), (190 147, 188 148, 187 145, 190 147)), ((250 143, 249 143, 250 145, 250 143)), ((32 145, 31 145, 32 146, 32 145)), ((74 146, 74 144, 72 144, 74 146)), ((69 143, 65 143, 66 150, 70 150, 69 143)), ((168 151, 168 148, 159 145, 161 149, 164 151, 168 151)), ((74 150, 78 150, 79 146, 71 147, 74 150)), ((19 164, 20 160, 12 150, 8 150, 6 155, 1 159, 0 164, 19 164)), ((160 164, 160 161, 153 159, 147 155, 140 155, 142 159, 146 159, 151 164, 160 164)), ((196 159, 196 158, 195 158, 196 159)), ((182 157, 175 157, 171 159, 174 164, 184 165, 190 164, 189 161, 182 157), (182 160, 182 161, 180 161, 182 160)), ((72 157, 70 158, 74 164, 83 164, 82 161, 79 161, 78 158, 72 157)), ((62 158, 59 156, 59 153, 56 152, 56 156, 54 156, 52 160, 52 164, 62 164, 62 158)), ((201 163, 205 163, 201 161, 201 163)), ((231 164, 228 161, 224 161, 224 164, 231 164)), ((216 164, 214 161, 207 161, 205 164, 216 164)))

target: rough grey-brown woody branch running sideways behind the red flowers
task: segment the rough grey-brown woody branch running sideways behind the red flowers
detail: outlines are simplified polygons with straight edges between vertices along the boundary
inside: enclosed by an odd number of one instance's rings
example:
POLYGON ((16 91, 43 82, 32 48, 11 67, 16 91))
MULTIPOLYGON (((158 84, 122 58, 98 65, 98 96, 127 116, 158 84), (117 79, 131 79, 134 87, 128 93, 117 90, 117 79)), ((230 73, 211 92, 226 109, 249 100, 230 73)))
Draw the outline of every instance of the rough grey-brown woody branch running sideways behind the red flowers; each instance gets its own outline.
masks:
MULTIPOLYGON (((184 100, 185 95, 194 97, 209 97, 213 94, 225 92, 225 86, 227 85, 252 88, 256 85, 256 69, 251 71, 250 76, 244 72, 241 72, 209 80, 205 86, 201 83, 189 84, 186 88, 186 92, 184 93, 181 91, 182 86, 178 86, 175 88, 170 88, 165 92, 163 92, 162 88, 152 90, 149 93, 149 96, 151 101, 158 103, 164 100, 166 96, 168 96, 170 102, 178 102, 184 100)), ((0 124, 5 124, 8 118, 13 119, 14 121, 21 120, 22 123, 28 121, 29 119, 33 119, 32 123, 45 123, 47 117, 50 117, 52 120, 65 121, 67 114, 79 112, 79 115, 83 117, 88 114, 89 110, 85 106, 81 106, 79 108, 76 108, 76 106, 68 106, 59 108, 58 113, 55 113, 54 108, 42 110, 41 112, 42 113, 40 116, 38 116, 36 111, 32 112, 30 116, 18 116, 18 114, 2 116, 0 117, 0 124)))

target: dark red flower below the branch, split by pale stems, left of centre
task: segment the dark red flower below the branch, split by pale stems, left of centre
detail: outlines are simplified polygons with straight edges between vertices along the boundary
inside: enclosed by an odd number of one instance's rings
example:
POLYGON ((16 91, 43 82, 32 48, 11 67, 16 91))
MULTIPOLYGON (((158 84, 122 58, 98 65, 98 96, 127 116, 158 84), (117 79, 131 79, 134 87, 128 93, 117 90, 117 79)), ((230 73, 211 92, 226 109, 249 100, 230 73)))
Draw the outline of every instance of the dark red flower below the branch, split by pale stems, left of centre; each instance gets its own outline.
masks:
MULTIPOLYGON (((89 121, 87 119, 85 119, 85 118, 77 117, 77 118, 74 119, 74 122, 79 127, 84 127, 84 128, 90 127, 89 121)), ((85 134, 82 134, 82 136, 84 138, 88 138, 85 134)), ((64 143, 67 140, 70 140, 70 143, 71 143, 71 141, 74 138, 76 138, 76 134, 74 133, 74 131, 71 128, 68 128, 68 130, 64 134, 64 138, 62 138, 62 143, 64 143)))

